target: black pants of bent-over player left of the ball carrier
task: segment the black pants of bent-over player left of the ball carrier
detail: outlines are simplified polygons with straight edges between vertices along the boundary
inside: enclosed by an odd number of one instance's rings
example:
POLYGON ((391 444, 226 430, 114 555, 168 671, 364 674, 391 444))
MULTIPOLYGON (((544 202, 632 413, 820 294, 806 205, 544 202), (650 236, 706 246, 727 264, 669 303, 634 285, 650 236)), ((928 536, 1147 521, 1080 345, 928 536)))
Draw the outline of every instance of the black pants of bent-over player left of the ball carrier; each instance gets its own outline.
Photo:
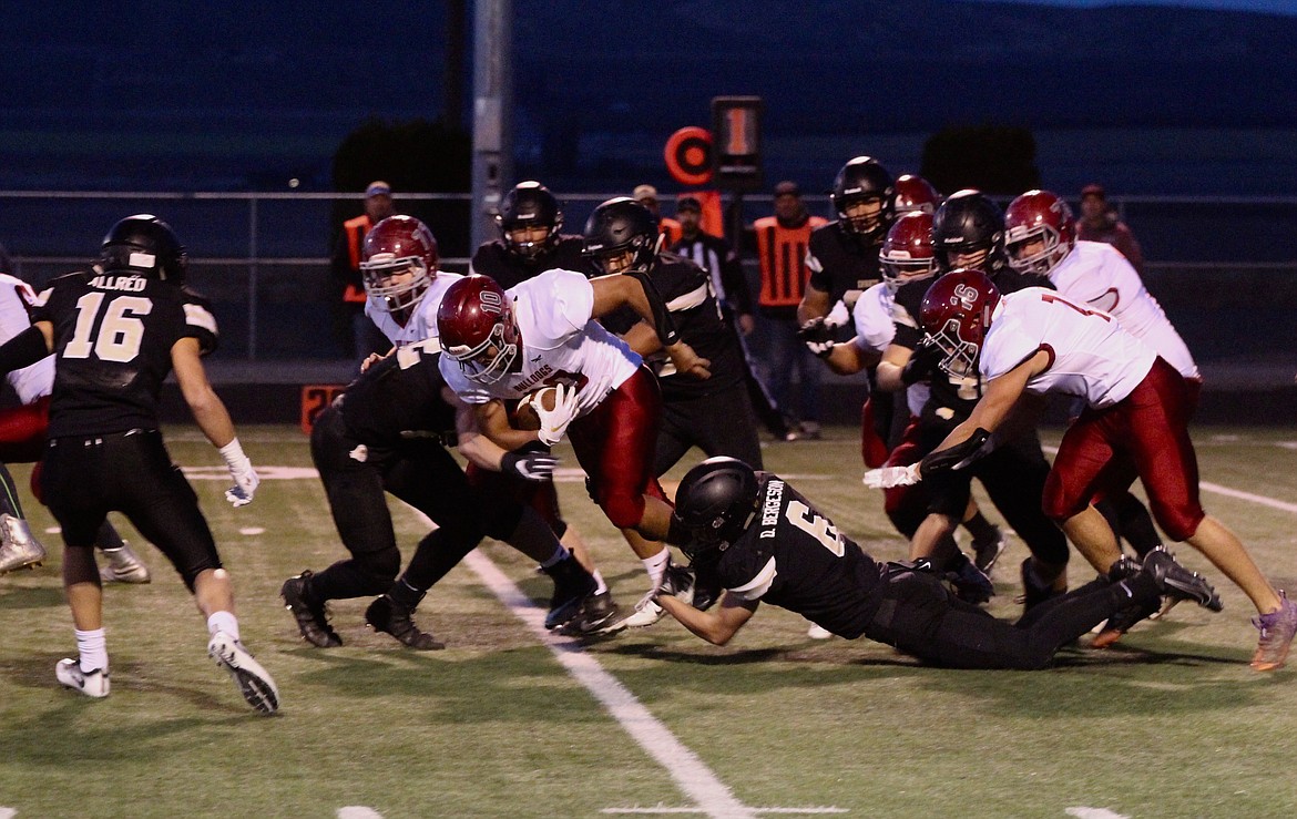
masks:
POLYGON ((401 552, 385 492, 438 525, 419 542, 403 577, 420 592, 445 577, 482 536, 511 535, 521 517, 521 505, 507 499, 488 508, 438 442, 412 438, 397 450, 371 450, 348 435, 336 407, 326 408, 315 421, 311 459, 342 546, 351 553, 311 577, 311 596, 320 600, 380 595, 392 586, 401 552))

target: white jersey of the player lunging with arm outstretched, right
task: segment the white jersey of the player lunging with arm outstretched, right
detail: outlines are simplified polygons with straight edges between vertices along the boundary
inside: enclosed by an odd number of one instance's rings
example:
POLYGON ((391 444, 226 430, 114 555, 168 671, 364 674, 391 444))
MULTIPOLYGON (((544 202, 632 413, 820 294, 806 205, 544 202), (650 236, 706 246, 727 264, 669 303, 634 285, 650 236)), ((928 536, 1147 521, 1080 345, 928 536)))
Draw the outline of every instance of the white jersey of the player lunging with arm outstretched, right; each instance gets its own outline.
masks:
POLYGON ((982 376, 1003 376, 1040 350, 1049 354, 1049 367, 1027 381, 1027 390, 1079 395, 1096 408, 1130 395, 1157 360, 1112 315, 1054 290, 1026 288, 1003 297, 982 342, 982 376))

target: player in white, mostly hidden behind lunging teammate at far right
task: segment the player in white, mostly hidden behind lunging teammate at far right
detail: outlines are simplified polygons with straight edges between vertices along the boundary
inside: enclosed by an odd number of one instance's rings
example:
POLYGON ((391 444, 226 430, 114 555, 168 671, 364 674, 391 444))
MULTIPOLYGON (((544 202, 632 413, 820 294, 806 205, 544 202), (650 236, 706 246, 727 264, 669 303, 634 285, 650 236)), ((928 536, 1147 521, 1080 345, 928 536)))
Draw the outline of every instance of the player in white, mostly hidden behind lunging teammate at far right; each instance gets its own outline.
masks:
MULTIPOLYGON (((1122 329, 1153 347, 1185 378, 1197 406, 1201 376, 1188 346, 1145 289, 1144 281, 1117 249, 1104 242, 1078 241, 1067 202, 1049 190, 1027 190, 1004 211, 1005 250, 1013 270, 1047 277, 1078 305, 1110 314, 1122 329)), ((1130 467, 1134 479, 1135 469, 1130 467)), ((1143 557, 1161 543, 1144 504, 1130 491, 1096 498, 1096 508, 1143 557)), ((1124 612, 1095 638, 1102 648, 1152 612, 1124 612)))

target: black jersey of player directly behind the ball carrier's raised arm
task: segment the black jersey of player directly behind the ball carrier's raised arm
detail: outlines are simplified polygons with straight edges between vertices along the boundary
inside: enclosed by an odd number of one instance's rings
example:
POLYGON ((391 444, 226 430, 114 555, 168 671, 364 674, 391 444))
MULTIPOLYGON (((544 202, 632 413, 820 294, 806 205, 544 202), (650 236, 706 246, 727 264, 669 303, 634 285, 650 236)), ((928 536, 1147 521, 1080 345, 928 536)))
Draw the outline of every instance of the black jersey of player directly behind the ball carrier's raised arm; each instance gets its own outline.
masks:
MULTIPOLYGON (((699 380, 676 372, 665 352, 658 351, 646 359, 658 375, 664 400, 711 395, 743 382, 743 352, 734 332, 721 319, 720 307, 712 295, 711 279, 689 259, 673 253, 659 253, 651 273, 652 283, 667 302, 671 319, 681 341, 694 352, 711 360, 711 378, 699 380)), ((639 314, 621 307, 601 316, 599 323, 619 336, 639 323, 639 314)))

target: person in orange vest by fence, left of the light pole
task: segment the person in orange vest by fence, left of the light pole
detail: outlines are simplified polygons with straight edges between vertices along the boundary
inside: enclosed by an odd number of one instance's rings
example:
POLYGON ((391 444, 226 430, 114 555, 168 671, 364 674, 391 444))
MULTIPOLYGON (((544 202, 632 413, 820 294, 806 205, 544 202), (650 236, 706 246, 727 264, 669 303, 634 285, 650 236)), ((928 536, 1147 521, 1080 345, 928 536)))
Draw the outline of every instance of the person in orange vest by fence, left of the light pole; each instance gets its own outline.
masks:
POLYGON ((371 352, 387 352, 392 345, 364 315, 364 280, 361 277, 361 255, 366 233, 396 213, 392 185, 375 180, 364 189, 364 213, 342 223, 342 233, 333 245, 329 262, 329 284, 337 312, 339 342, 344 355, 362 362, 371 352))

